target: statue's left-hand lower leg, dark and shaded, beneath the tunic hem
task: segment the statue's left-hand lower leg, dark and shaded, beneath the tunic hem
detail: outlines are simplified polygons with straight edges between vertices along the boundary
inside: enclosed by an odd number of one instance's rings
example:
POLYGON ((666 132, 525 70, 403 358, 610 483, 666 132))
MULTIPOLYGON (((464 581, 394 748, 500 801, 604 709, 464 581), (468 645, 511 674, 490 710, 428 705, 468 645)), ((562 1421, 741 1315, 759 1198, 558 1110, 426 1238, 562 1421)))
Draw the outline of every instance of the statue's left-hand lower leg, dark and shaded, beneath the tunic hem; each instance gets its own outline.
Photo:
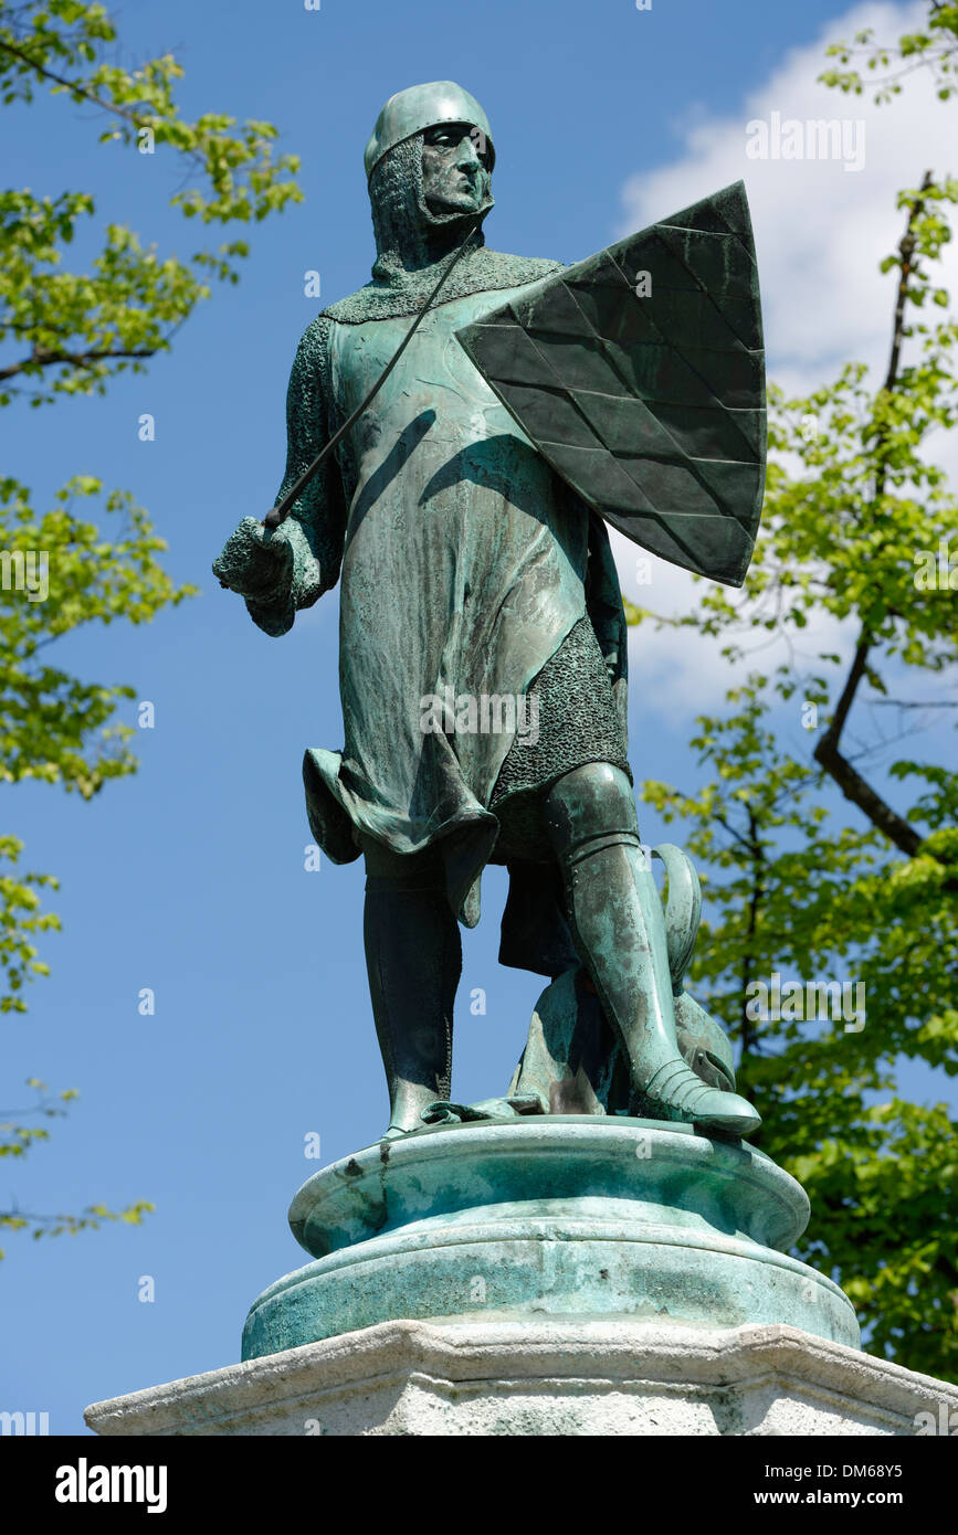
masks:
POLYGON ((365 964, 390 1094, 387 1134, 422 1127, 448 1099, 453 1004, 462 973, 459 924, 434 855, 365 846, 365 964))

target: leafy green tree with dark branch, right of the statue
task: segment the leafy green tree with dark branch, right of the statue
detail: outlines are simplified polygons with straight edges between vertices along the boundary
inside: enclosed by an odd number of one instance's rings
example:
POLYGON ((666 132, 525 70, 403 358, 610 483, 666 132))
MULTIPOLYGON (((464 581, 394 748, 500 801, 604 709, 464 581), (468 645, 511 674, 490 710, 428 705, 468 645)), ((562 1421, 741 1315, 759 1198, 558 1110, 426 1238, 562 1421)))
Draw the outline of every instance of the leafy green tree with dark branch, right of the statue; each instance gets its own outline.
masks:
MULTIPOLYGON (((875 80, 878 100, 917 63, 950 95, 958 6, 930 12, 895 48, 855 40, 892 71, 890 84, 875 80)), ((863 89, 854 71, 824 80, 863 89)), ((958 708, 933 689, 958 660, 958 502, 933 459, 933 433, 958 411, 958 327, 935 282, 956 201, 958 181, 932 172, 898 196, 904 232, 881 262, 894 282, 884 375, 852 362, 806 398, 769 390, 763 536, 745 594, 706 588, 669 620, 718 642, 746 680, 728 715, 699 720, 705 786, 643 791, 689 823, 711 873, 695 984, 737 1041, 742 1090, 765 1119, 757 1144, 809 1193, 800 1256, 841 1283, 872 1351, 952 1380, 958 1124, 943 1102, 909 1102, 897 1078, 903 1059, 958 1074, 958 774, 927 754, 881 761, 958 708), (749 672, 772 639, 785 662, 749 672), (867 723, 887 711, 894 735, 867 723), (775 973, 781 987, 864 990, 838 1018, 834 996, 821 1016, 820 993, 808 1018, 804 990, 775 1007, 775 973)))

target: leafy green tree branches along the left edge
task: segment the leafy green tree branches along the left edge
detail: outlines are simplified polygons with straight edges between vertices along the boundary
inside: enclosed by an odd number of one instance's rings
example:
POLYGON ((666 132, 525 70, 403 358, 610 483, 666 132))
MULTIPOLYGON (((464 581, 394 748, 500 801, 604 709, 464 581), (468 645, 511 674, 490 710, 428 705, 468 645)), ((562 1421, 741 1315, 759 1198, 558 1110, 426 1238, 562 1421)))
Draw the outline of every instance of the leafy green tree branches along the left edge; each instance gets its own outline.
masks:
MULTIPOLYGON (((100 143, 161 154, 181 175, 170 203, 198 230, 235 230, 299 201, 298 161, 275 157, 276 129, 209 112, 189 121, 175 98, 183 77, 166 54, 127 69, 117 63, 118 32, 101 5, 80 0, 0 0, 0 98, 6 107, 40 94, 89 111, 100 143)), ((0 405, 32 408, 64 394, 104 394, 111 379, 140 373, 172 339, 213 282, 236 282, 249 253, 244 239, 204 241, 189 259, 161 256, 135 230, 111 223, 89 270, 71 272, 64 255, 80 227, 95 220, 86 192, 34 195, 0 190, 0 405), (6 361, 9 356, 9 361, 6 361)), ((129 491, 106 491, 94 476, 74 476, 46 510, 31 490, 0 479, 3 527, 0 591, 0 780, 38 778, 84 800, 109 778, 137 768, 132 731, 115 723, 129 686, 83 682, 51 665, 48 648, 84 625, 147 623, 195 588, 175 586, 158 556, 166 548, 129 491), (97 505, 104 527, 83 516, 97 505), (41 562, 46 562, 41 568, 41 562), (43 591, 48 586, 48 591, 43 591)), ((48 873, 20 872, 23 844, 0 837, 0 1012, 25 1012, 25 985, 48 973, 38 939, 58 927, 43 906, 57 887, 48 873)), ((64 1113, 74 1090, 28 1084, 35 1102, 0 1110, 0 1157, 17 1157, 48 1137, 40 1121, 64 1113)), ((152 1207, 80 1214, 0 1211, 0 1226, 34 1236, 78 1231, 100 1220, 140 1222, 152 1207)), ((2 1254, 0 1254, 2 1256, 2 1254)))

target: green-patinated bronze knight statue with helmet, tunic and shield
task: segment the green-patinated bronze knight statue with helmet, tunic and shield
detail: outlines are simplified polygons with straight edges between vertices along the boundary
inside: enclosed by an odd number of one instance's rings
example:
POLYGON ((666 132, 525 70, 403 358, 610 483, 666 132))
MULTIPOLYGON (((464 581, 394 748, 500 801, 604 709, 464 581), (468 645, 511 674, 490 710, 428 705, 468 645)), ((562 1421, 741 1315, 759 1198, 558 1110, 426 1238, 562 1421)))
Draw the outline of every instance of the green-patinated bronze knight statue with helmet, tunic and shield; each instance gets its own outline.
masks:
POLYGON ((682 989, 694 870, 659 850, 663 910, 639 838, 606 531, 745 577, 765 462, 745 192, 562 267, 484 244, 493 164, 459 86, 387 101, 373 279, 307 327, 289 505, 244 517, 213 569, 272 635, 341 580, 345 744, 306 754, 306 795, 329 858, 365 858, 387 1136, 543 1111, 749 1134, 725 1035, 682 989), (490 861, 500 961, 551 984, 508 1094, 470 1108, 450 1102, 458 923, 490 861))

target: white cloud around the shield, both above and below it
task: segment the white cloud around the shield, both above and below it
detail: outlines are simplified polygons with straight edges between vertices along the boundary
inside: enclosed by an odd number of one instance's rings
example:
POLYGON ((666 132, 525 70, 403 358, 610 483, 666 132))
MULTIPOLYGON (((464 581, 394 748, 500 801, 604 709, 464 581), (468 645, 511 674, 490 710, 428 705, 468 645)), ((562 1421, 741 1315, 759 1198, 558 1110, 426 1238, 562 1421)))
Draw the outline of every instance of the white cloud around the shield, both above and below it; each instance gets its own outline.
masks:
MULTIPOLYGON (((878 40, 894 40, 915 28, 926 5, 858 5, 828 23, 809 45, 792 49, 766 81, 755 86, 731 117, 689 112, 679 129, 683 152, 668 164, 629 178, 622 192, 620 235, 642 229, 708 192, 743 180, 748 189, 761 282, 769 376, 803 393, 828 382, 838 367, 858 359, 883 370, 890 342, 895 273, 878 262, 898 244, 904 213, 895 207, 900 189, 917 186, 926 170, 958 167, 947 158, 955 144, 953 103, 935 97, 926 71, 904 83, 904 92, 877 107, 867 91, 841 95, 817 84, 828 66, 829 41, 849 40, 874 28, 878 40), (841 160, 752 160, 746 155, 748 124, 861 120, 864 164, 846 170, 841 160)), ((754 137, 754 135, 752 135, 754 137)), ((958 249, 946 252, 941 282, 958 292, 958 249)), ((935 310, 935 318, 941 312, 935 310)), ((958 442, 937 457, 958 477, 958 442), (950 462, 949 462, 950 460, 950 462)), ((622 588, 634 602, 660 612, 688 611, 702 588, 683 571, 652 560, 652 583, 636 580, 639 550, 613 534, 622 588)), ((837 635, 828 639, 835 645, 837 635)), ((826 643, 826 631, 803 635, 808 651, 826 643)), ((633 675, 652 685, 656 703, 668 715, 722 703, 734 674, 714 642, 694 631, 643 628, 631 640, 633 675)), ((761 651, 757 665, 771 665, 785 651, 761 651)), ((740 669, 738 669, 740 674, 740 669)))

